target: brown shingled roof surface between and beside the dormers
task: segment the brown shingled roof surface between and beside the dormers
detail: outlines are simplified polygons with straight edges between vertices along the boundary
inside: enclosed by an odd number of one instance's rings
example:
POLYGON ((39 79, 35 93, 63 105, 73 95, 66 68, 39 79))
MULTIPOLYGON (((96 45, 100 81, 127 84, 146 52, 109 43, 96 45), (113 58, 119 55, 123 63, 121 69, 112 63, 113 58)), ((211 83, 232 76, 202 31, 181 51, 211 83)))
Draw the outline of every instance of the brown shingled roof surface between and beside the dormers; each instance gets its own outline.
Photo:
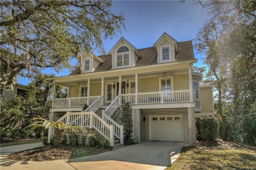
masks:
MULTIPOLYGON (((157 53, 154 47, 138 49, 138 53, 140 53, 141 57, 138 59, 135 67, 157 64, 157 53)), ((103 60, 103 63, 101 63, 94 72, 111 70, 112 56, 108 54, 98 57, 103 60)), ((178 42, 178 52, 175 54, 175 61, 186 61, 194 58, 192 41, 178 42)), ((77 67, 70 73, 70 75, 76 74, 81 74, 80 67, 77 67)))

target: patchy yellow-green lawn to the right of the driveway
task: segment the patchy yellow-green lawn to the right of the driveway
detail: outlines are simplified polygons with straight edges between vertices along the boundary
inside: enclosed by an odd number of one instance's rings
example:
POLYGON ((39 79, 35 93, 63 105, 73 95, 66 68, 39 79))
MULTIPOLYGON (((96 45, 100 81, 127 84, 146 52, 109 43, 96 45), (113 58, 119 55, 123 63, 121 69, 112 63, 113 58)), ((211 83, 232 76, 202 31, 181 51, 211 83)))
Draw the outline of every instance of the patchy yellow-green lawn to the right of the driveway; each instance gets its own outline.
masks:
POLYGON ((256 150, 251 148, 184 147, 166 170, 255 170, 256 150))

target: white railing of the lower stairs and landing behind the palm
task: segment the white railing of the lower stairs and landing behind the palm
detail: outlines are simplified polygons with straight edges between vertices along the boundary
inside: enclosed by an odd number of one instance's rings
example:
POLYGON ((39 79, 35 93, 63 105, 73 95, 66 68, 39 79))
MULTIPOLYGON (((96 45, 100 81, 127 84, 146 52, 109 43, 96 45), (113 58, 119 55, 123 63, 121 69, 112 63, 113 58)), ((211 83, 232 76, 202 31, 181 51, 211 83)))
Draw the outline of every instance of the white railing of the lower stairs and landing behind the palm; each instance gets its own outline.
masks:
MULTIPOLYGON (((110 118, 111 119, 111 118, 110 118)), ((80 125, 87 128, 95 128, 100 134, 102 134, 107 140, 110 141, 110 146, 114 146, 114 136, 120 139, 120 143, 123 143, 123 126, 117 123, 109 125, 93 111, 90 112, 68 112, 58 122, 70 123, 71 125, 80 125)), ((48 142, 54 135, 54 130, 49 128, 48 142)))

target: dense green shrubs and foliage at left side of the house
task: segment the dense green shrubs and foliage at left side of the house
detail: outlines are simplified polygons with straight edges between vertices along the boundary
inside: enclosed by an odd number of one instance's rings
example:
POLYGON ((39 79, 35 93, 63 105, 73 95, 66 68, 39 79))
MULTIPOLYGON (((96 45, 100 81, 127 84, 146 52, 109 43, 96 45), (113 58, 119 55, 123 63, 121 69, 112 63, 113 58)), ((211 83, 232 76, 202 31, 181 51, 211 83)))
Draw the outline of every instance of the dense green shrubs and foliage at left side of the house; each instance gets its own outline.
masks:
MULTIPOLYGON (((16 95, 12 101, 1 100, 1 128, 9 128, 11 132, 21 130, 30 125, 32 123, 31 119, 36 115, 46 119, 49 117, 49 109, 52 106, 50 95, 53 91, 53 83, 52 81, 46 81, 46 78, 51 76, 54 75, 39 74, 28 85, 25 95, 16 95)), ((59 89, 59 95, 62 94, 61 88, 57 88, 59 89)), ((39 129, 37 129, 36 133, 39 137, 39 129)), ((27 138, 27 132, 23 131, 22 134, 20 135, 21 138, 27 138)), ((9 138, 11 138, 10 135, 9 138)))

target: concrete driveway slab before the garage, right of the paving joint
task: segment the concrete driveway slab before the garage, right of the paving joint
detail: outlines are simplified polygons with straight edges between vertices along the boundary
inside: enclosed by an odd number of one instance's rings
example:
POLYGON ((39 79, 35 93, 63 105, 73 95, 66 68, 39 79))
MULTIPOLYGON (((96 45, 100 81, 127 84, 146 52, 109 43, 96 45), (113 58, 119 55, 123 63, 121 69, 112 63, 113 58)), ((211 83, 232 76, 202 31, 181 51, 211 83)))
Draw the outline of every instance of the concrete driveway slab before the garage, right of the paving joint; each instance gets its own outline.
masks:
POLYGON ((98 155, 69 159, 66 162, 78 170, 163 170, 178 158, 182 146, 188 145, 183 142, 143 141, 140 144, 125 146, 98 155))

